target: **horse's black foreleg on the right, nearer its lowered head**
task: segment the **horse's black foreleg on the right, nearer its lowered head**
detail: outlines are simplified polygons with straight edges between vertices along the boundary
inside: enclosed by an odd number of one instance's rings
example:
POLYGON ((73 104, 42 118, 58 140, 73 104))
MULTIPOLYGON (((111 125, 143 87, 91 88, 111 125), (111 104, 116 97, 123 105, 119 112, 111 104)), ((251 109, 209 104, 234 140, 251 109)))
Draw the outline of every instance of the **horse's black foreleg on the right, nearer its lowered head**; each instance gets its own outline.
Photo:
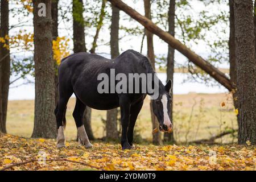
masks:
POLYGON ((133 145, 134 126, 135 126, 135 122, 137 120, 138 114, 141 111, 142 105, 143 105, 143 100, 136 104, 131 105, 131 109, 130 109, 130 122, 128 126, 128 131, 127 131, 127 138, 132 148, 134 148, 134 145, 133 145))

